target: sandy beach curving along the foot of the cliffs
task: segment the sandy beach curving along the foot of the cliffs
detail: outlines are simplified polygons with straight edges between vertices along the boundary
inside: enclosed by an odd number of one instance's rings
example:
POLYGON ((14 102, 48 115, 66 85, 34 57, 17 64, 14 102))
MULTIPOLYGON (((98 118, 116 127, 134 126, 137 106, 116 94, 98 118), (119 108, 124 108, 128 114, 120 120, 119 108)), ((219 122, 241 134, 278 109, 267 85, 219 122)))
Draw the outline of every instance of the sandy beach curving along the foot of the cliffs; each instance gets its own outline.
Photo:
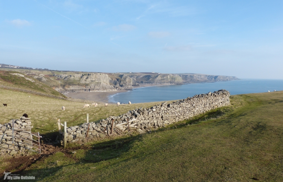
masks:
POLYGON ((114 94, 121 93, 121 92, 127 92, 134 88, 163 86, 163 85, 168 85, 168 84, 140 84, 139 87, 133 87, 133 88, 125 89, 125 90, 117 90, 117 91, 109 91, 109 92, 70 92, 66 94, 66 96, 72 97, 72 98, 87 99, 87 100, 92 100, 92 101, 111 103, 108 100, 108 97, 110 95, 114 95, 114 94))

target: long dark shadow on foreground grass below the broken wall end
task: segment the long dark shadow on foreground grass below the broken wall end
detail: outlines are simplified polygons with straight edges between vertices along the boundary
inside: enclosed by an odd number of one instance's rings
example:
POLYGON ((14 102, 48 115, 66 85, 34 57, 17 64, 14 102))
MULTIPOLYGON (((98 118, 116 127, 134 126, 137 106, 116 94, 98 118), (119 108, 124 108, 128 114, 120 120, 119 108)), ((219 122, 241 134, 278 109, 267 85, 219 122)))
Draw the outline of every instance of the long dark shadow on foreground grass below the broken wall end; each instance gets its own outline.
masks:
MULTIPOLYGON (((86 165, 89 163, 99 163, 121 156, 131 148, 131 144, 138 140, 141 135, 129 136, 126 138, 114 139, 95 143, 89 146, 74 146, 57 152, 51 158, 39 161, 40 165, 37 169, 24 170, 16 172, 20 176, 35 176, 33 181, 43 180, 46 177, 54 176, 63 167, 74 165, 86 165), (76 151, 75 154, 72 152, 76 151), (65 161, 68 160, 68 161, 65 161), (59 162, 58 162, 59 161, 59 162), (66 164, 59 164, 64 161, 66 164), (41 168, 45 166, 45 168, 41 168)), ((48 156, 44 156, 48 157, 48 156)), ((41 157, 40 159, 42 159, 41 157)), ((33 163, 34 164, 34 163, 33 163)), ((37 165, 37 164, 34 164, 37 165)))

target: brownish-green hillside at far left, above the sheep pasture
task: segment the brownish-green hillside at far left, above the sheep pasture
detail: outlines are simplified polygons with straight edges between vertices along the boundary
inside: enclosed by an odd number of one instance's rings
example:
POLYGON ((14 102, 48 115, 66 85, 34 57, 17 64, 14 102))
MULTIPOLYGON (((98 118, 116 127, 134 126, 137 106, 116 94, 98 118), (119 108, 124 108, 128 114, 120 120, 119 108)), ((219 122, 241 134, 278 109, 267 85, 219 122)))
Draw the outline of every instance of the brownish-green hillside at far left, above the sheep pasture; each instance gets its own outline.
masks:
POLYGON ((34 82, 26 80, 24 77, 20 77, 17 75, 12 75, 12 73, 19 73, 17 71, 4 71, 0 70, 0 84, 10 86, 10 87, 17 87, 17 88, 24 88, 28 90, 33 90, 37 92, 41 92, 44 94, 51 94, 60 97, 65 97, 65 95, 55 91, 53 88, 43 84, 42 82, 34 79, 32 77, 26 76, 27 78, 32 79, 34 82))

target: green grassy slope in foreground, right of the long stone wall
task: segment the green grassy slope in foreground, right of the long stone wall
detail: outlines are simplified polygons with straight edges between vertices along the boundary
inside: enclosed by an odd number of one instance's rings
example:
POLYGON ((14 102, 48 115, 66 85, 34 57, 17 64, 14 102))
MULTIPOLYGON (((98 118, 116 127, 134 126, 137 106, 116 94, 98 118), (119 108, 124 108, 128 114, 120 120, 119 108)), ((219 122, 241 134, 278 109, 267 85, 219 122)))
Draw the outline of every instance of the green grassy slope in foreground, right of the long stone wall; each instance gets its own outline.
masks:
POLYGON ((22 175, 38 181, 282 181, 283 92, 232 96, 231 102, 176 129, 89 143, 75 155, 58 152, 22 175), (187 125, 192 122, 198 124, 187 125))

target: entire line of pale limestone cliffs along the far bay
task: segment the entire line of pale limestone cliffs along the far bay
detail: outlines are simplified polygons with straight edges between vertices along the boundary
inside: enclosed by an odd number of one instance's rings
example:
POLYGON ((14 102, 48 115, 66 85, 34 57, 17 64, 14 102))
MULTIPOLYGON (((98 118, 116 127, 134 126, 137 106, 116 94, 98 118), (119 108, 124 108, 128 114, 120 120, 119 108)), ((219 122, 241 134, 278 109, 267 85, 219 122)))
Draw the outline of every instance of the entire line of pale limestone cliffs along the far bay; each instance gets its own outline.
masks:
POLYGON ((29 75, 61 93, 115 91, 139 86, 139 84, 187 84, 238 79, 237 77, 219 75, 160 73, 64 73, 52 75, 30 73, 29 75))

